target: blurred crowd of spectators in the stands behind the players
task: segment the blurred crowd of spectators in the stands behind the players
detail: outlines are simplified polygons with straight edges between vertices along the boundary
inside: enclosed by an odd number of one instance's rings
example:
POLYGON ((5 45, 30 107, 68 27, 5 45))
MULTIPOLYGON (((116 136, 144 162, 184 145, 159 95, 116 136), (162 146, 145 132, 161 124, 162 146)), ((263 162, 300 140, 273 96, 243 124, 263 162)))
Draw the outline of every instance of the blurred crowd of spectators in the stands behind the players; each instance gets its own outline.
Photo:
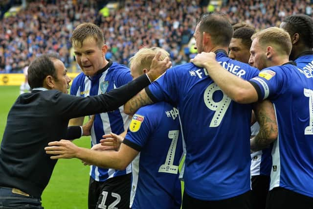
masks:
MULTIPOLYGON (((312 15, 311 1, 224 0, 224 5, 217 10, 226 13, 232 23, 245 21, 259 30, 279 25, 291 14, 312 15)), ((12 0, 2 1, 1 11, 10 2, 12 0)), ((189 61, 194 52, 187 44, 193 35, 196 17, 207 12, 208 1, 116 2, 119 7, 109 11, 102 9, 106 1, 99 0, 27 0, 25 8, 1 19, 0 72, 22 72, 34 57, 46 52, 58 52, 70 70, 74 60, 70 34, 83 22, 95 23, 103 29, 109 46, 106 57, 115 62, 128 66, 129 58, 142 46, 166 49, 173 65, 189 61)))

